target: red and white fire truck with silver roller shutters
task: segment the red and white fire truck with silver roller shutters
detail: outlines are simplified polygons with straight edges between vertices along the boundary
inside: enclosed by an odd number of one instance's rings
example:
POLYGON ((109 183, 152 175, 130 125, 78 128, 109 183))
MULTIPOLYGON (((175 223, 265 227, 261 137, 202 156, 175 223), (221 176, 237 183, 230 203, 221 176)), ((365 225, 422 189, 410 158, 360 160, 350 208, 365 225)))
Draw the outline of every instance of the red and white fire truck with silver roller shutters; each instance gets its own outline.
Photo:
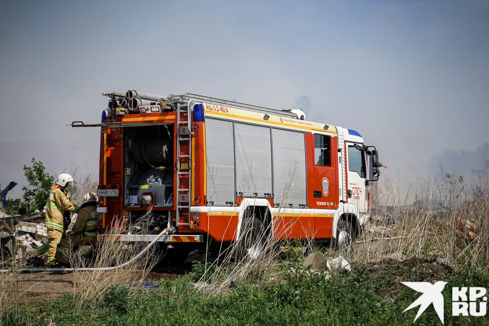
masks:
POLYGON ((101 128, 99 240, 242 241, 257 255, 250 237, 350 248, 369 222, 378 155, 355 130, 189 93, 103 95, 101 123, 72 123, 101 128), (149 208, 142 234, 131 226, 149 208), (120 235, 104 236, 115 224, 120 235))

